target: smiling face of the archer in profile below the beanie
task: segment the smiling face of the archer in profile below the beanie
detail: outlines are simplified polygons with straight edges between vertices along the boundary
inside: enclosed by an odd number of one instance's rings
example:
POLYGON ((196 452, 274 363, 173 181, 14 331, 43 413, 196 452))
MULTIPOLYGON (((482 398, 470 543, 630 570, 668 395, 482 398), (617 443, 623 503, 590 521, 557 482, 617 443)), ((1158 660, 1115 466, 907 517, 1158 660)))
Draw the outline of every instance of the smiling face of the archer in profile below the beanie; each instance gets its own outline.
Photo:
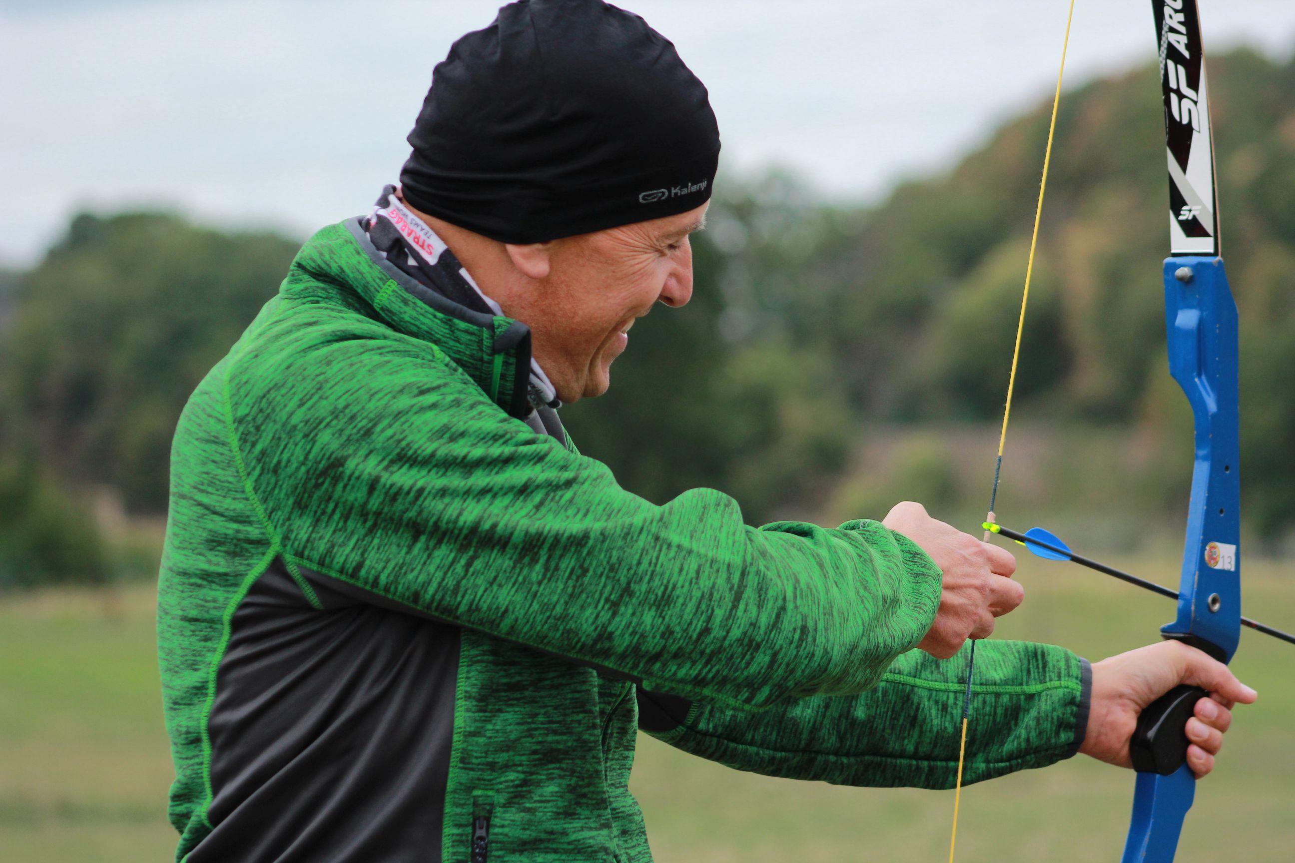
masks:
POLYGON ((531 327, 535 358, 563 402, 601 396, 611 364, 629 344, 629 329, 653 304, 693 295, 689 234, 706 204, 664 219, 553 241, 549 273, 531 301, 514 298, 531 327))

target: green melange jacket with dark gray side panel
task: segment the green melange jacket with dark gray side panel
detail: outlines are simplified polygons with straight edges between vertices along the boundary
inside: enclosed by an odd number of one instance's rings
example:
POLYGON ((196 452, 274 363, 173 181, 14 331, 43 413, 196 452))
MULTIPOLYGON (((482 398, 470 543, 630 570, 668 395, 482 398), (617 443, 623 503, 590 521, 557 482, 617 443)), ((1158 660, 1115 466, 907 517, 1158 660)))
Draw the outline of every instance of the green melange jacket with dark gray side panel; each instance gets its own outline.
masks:
MULTIPOLYGON (((528 345, 351 220, 193 393, 158 606, 177 858, 646 863, 640 703, 742 770, 952 784, 966 662, 913 651, 930 559, 625 492, 523 422, 528 345)), ((966 780, 1072 754, 1085 668, 984 643, 966 780)))

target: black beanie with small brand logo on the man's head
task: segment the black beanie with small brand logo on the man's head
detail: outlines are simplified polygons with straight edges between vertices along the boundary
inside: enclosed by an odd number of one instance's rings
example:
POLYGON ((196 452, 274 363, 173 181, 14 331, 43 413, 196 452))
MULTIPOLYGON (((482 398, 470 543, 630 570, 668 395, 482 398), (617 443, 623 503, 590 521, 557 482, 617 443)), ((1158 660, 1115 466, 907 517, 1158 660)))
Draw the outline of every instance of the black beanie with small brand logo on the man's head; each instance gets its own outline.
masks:
POLYGON ((400 171, 417 210, 506 243, 673 216, 720 135, 675 45, 600 0, 519 0, 433 71, 400 171))

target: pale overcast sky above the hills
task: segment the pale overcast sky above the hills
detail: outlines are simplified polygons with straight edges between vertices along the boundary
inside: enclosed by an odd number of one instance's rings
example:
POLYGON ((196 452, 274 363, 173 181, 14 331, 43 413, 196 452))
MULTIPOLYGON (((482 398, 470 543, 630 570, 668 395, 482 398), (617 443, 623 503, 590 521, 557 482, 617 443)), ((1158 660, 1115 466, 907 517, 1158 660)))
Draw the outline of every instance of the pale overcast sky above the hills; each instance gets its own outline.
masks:
MULTIPOLYGON (((1285 58, 1292 0, 1200 0, 1285 58)), ((449 44, 497 0, 0 0, 0 261, 80 208, 306 235, 368 208, 449 44)), ((711 92, 724 171, 868 201, 1050 94, 1067 0, 625 0, 711 92)), ((1147 62, 1147 0, 1079 0, 1067 82, 1147 62)), ((1226 135, 1220 129, 1219 135, 1226 135)))

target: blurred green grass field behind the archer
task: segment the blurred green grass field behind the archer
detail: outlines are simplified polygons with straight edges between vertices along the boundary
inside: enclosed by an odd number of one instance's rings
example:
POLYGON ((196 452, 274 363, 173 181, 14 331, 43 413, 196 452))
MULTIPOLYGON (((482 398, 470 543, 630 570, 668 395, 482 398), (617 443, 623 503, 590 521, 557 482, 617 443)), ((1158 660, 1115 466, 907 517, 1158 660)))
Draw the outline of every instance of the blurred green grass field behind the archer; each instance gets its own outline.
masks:
MULTIPOLYGON (((1137 560, 1133 572, 1173 581, 1137 560)), ((1246 611, 1295 626, 1290 567, 1247 564, 1246 611)), ((1026 604, 1004 638, 1066 644, 1090 659, 1154 640, 1172 604, 1074 567, 1022 562, 1026 604)), ((153 652, 153 596, 130 589, 0 600, 0 860, 167 860, 171 762, 153 652)), ((1295 687, 1290 646, 1243 634, 1234 668, 1260 691, 1238 712, 1219 770, 1202 783, 1178 860, 1295 860, 1295 687)), ((956 730, 951 728, 949 734, 956 730)), ((975 747, 975 722, 969 747, 975 747)), ((754 776, 641 739, 635 792, 657 859, 688 863, 943 860, 952 792, 855 789, 754 776)), ((973 785, 958 860, 1119 859, 1133 774, 1075 758, 973 785)))

